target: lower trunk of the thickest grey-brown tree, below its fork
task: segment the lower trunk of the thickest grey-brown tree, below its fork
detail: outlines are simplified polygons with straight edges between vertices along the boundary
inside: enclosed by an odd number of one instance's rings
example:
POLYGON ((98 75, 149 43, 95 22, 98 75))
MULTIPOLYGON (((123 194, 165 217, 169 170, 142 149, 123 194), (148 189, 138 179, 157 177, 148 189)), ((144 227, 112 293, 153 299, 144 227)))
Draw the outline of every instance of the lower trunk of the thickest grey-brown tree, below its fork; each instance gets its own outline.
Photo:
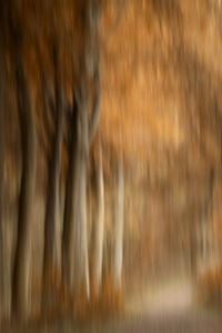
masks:
MULTIPOLYGON (((84 88, 83 88, 84 89, 84 88)), ((88 98, 79 95, 75 131, 72 138, 68 173, 63 261, 69 287, 78 292, 84 285, 89 297, 89 260, 87 231, 88 98), (73 282, 74 279, 74 282, 73 282)))

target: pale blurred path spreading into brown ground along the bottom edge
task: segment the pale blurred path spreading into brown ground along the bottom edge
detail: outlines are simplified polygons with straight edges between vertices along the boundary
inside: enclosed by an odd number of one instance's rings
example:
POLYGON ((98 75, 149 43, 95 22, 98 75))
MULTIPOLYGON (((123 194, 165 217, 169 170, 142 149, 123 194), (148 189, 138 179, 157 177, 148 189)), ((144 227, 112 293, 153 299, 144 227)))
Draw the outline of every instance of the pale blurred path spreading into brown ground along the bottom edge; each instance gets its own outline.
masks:
POLYGON ((10 330, 10 333, 13 332, 219 333, 222 332, 222 317, 216 312, 195 306, 189 279, 162 279, 127 297, 124 315, 119 317, 97 321, 81 327, 69 321, 58 321, 44 329, 10 330))

